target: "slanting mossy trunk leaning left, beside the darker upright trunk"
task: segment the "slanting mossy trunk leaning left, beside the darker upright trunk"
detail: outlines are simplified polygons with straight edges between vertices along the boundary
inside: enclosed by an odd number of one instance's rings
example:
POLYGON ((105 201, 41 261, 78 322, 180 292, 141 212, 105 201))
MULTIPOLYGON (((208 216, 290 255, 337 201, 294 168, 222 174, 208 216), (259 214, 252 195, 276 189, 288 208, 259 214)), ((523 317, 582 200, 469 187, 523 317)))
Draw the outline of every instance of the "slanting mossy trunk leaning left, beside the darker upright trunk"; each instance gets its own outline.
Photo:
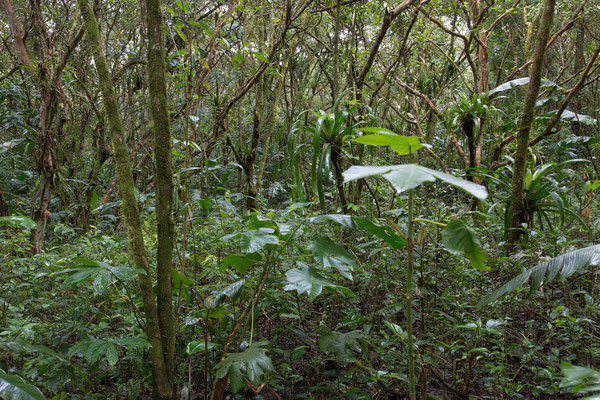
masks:
POLYGON ((165 346, 163 346, 163 337, 159 326, 158 310, 151 279, 152 273, 148 263, 142 225, 137 200, 135 198, 133 173, 123 131, 123 122, 119 114, 119 106, 108 70, 108 63, 100 41, 100 32, 96 16, 94 15, 88 0, 78 0, 78 4, 85 24, 87 38, 94 56, 100 83, 100 91, 102 92, 102 100, 104 102, 110 128, 117 172, 117 184, 121 197, 121 211, 127 225, 129 253, 134 265, 141 271, 138 275, 138 282, 144 302, 146 335, 148 337, 148 342, 150 343, 150 361, 152 363, 152 375, 154 378, 154 398, 171 399, 173 397, 173 384, 165 362, 165 346))

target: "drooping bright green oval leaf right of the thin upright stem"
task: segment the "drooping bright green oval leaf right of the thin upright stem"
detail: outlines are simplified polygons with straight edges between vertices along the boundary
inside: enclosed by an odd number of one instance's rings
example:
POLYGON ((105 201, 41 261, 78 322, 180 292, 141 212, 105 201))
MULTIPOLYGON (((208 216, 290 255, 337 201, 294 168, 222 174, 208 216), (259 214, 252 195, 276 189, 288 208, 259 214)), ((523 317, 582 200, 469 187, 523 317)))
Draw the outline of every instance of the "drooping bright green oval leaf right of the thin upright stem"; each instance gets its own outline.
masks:
POLYGON ((483 265, 487 259, 481 243, 468 226, 460 220, 451 221, 442 230, 442 243, 450 253, 465 255, 471 261, 471 265, 480 271, 489 271, 489 267, 483 265))

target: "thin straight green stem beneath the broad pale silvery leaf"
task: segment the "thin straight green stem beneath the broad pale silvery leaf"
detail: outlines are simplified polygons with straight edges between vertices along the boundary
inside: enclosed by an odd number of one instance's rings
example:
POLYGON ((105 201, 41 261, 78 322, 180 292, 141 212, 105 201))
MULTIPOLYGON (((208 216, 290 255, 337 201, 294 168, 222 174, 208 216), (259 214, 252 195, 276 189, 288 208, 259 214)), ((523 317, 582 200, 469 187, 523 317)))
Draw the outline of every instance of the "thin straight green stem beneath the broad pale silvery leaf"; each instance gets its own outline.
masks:
POLYGON ((413 191, 408 191, 408 223, 406 241, 408 242, 408 266, 406 269, 406 334, 408 336, 408 392, 410 400, 416 400, 415 388, 415 349, 412 331, 412 293, 414 271, 414 240, 413 240, 413 191))

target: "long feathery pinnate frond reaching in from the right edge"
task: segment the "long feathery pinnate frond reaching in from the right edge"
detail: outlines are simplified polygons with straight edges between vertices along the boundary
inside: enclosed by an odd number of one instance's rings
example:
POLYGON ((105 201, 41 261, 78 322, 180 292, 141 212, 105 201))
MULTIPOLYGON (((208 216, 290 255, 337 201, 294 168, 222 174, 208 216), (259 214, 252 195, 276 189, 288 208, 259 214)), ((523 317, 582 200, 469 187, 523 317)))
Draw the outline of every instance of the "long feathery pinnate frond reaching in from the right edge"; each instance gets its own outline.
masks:
POLYGON ((564 280, 583 268, 599 264, 600 245, 571 251, 522 272, 502 287, 485 295, 479 301, 478 306, 489 304, 499 299, 505 294, 516 290, 521 285, 524 285, 527 281, 529 281, 529 294, 531 295, 546 283, 555 280, 564 280))

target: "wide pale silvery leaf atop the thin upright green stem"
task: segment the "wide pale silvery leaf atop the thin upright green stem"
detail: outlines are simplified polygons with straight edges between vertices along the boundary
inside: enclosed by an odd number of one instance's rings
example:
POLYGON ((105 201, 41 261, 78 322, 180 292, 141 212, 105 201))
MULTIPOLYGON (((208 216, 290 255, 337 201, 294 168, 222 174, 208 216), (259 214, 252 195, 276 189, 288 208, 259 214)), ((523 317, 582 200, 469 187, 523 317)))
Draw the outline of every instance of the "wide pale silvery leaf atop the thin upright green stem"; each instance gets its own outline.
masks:
POLYGON ((353 165, 344 171, 344 182, 377 175, 381 175, 387 179, 398 193, 416 188, 424 182, 434 182, 437 178, 462 189, 479 199, 483 200, 487 197, 487 190, 482 185, 416 164, 390 165, 383 167, 353 165))

